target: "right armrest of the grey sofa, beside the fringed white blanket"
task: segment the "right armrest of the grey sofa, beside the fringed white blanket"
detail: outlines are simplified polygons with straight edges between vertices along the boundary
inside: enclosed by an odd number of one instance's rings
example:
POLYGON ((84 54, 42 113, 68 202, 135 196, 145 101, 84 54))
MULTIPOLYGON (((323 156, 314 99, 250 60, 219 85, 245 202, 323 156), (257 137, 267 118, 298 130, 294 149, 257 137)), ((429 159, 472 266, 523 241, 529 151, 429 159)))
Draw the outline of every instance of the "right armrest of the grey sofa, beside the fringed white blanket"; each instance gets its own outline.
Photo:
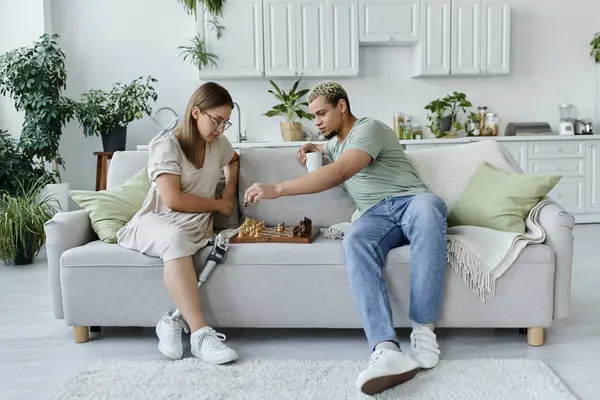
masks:
POLYGON ((539 223, 546 232, 544 244, 554 250, 554 319, 567 318, 571 310, 571 270, 575 218, 555 202, 542 207, 539 223))

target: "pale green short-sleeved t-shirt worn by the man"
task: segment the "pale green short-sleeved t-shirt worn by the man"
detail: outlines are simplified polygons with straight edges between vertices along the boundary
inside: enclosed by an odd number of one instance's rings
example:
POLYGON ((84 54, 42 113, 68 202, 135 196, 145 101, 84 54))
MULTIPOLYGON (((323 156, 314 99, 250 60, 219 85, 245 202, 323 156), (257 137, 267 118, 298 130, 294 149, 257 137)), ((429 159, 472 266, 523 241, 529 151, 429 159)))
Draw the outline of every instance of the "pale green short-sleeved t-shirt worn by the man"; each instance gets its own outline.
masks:
POLYGON ((346 139, 334 137, 325 144, 325 155, 337 160, 344 151, 362 150, 373 161, 344 182, 357 207, 353 219, 386 197, 409 196, 426 192, 427 186, 417 177, 394 131, 374 118, 361 118, 346 139))

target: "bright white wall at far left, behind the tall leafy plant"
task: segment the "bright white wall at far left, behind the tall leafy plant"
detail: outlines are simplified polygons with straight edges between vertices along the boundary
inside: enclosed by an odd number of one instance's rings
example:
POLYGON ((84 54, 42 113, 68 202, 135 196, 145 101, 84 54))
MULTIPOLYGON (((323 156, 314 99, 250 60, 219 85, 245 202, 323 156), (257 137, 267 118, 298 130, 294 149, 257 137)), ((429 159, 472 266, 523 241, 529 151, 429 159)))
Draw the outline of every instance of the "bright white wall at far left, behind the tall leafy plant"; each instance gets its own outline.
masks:
MULTIPOLYGON (((49 0, 0 0, 0 54, 37 40, 44 33, 45 21, 50 21, 48 6, 49 0)), ((0 96, 0 129, 19 136, 22 124, 23 113, 15 110, 8 97, 0 96)))

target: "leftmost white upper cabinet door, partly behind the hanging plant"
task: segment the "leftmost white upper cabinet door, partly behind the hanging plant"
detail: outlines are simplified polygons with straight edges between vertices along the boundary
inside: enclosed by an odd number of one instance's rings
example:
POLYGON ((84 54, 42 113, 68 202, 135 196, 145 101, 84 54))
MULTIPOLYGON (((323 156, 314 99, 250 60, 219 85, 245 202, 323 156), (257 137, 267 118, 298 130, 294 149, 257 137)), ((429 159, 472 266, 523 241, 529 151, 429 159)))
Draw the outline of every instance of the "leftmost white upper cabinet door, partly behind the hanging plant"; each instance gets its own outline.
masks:
POLYGON ((206 51, 216 54, 217 66, 205 68, 203 79, 252 78, 264 75, 263 2, 227 0, 223 5, 225 29, 220 38, 208 12, 198 15, 198 32, 204 37, 206 51))

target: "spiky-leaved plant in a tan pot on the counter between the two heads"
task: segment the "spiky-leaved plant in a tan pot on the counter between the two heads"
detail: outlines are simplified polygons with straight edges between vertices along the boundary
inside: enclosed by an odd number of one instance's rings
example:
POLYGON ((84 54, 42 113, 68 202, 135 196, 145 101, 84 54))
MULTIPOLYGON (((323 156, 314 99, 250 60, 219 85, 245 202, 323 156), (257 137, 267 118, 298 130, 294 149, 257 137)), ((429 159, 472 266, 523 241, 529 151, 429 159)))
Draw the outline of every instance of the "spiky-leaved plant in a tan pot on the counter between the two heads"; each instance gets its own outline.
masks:
POLYGON ((302 109, 302 107, 308 107, 308 103, 306 101, 300 101, 309 90, 303 89, 296 92, 300 79, 294 83, 294 86, 287 93, 282 91, 272 80, 269 80, 269 82, 271 82, 275 92, 272 90, 269 90, 268 92, 273 94, 280 103, 273 106, 271 110, 263 115, 267 117, 275 117, 277 115, 284 116, 285 122, 280 122, 283 140, 287 142, 302 140, 302 124, 298 122, 298 120, 304 118, 312 121, 314 119, 312 114, 309 114, 302 109))

